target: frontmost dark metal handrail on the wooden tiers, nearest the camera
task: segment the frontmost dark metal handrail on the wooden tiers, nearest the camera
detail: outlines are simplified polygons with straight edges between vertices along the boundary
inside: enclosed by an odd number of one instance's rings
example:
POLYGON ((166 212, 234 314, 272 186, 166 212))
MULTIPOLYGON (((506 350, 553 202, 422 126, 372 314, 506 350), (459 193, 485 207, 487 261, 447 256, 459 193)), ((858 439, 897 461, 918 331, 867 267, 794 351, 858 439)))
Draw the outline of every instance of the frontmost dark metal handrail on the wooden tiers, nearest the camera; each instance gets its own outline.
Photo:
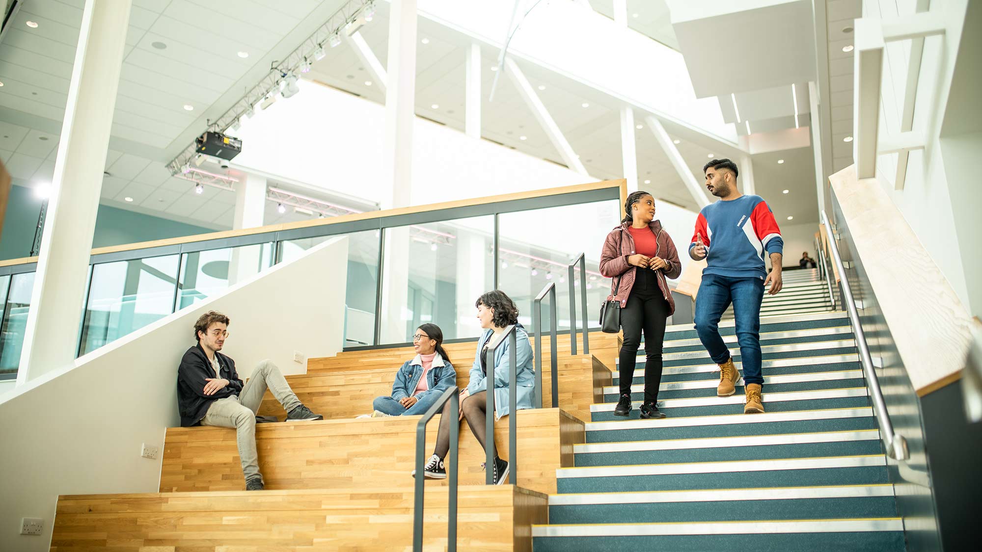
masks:
POLYGON ((438 412, 443 410, 443 406, 450 401, 450 462, 446 463, 447 471, 450 472, 450 486, 448 492, 450 497, 447 503, 447 550, 457 550, 457 465, 458 452, 461 434, 461 424, 455 423, 460 417, 461 409, 461 390, 455 385, 443 392, 436 403, 419 418, 416 423, 416 482, 415 492, 413 492, 412 508, 412 550, 420 552, 423 549, 423 460, 426 456, 426 423, 438 412))

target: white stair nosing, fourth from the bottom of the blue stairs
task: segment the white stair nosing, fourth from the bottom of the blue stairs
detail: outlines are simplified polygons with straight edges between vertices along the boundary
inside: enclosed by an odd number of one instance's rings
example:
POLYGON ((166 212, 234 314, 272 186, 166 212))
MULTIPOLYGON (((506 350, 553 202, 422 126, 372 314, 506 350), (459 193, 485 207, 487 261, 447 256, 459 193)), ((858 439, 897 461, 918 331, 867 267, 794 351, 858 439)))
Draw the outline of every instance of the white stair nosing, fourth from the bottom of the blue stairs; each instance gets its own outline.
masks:
POLYGON ((647 451, 679 451, 734 447, 764 447, 774 445, 805 445, 876 441, 878 429, 849 429, 817 433, 776 433, 770 435, 736 435, 732 437, 702 437, 696 439, 665 439, 661 441, 621 441, 616 443, 586 443, 573 445, 574 454, 628 453, 647 451))

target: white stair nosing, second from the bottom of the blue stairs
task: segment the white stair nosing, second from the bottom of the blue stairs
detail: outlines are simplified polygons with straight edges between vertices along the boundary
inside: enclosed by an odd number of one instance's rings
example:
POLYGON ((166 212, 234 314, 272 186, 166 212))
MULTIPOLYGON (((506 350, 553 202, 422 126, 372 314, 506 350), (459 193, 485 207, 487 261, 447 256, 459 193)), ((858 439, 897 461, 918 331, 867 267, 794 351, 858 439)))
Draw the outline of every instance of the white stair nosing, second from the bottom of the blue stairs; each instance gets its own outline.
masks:
POLYGON ((600 504, 664 504, 674 502, 729 502, 746 500, 798 500, 816 498, 870 498, 895 496, 891 483, 744 489, 693 489, 549 495, 549 506, 600 504))

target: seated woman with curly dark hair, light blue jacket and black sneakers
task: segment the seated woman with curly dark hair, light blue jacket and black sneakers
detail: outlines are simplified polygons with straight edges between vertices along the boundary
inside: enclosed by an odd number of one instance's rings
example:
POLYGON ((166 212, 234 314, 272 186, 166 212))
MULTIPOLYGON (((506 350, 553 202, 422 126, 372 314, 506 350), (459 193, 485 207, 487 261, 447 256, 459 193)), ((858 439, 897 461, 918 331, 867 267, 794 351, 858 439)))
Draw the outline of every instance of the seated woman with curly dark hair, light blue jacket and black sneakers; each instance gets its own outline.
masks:
MULTIPOLYGON (((477 319, 481 322, 484 333, 477 342, 477 352, 474 354, 474 364, 470 368, 470 382, 461 392, 461 417, 466 418, 467 425, 474 437, 485 447, 487 435, 487 368, 483 365, 483 352, 488 345, 505 331, 511 324, 517 324, 516 331, 516 409, 532 408, 532 398, 535 395, 535 369, 532 364, 532 347, 528 343, 528 334, 518 324, 518 308, 503 292, 493 291, 482 295, 474 304, 477 307, 477 319)), ((498 348, 494 359, 494 406, 495 420, 509 413, 509 356, 511 342, 506 339, 504 345, 498 348)), ((424 468, 424 476, 432 479, 443 479, 447 476, 443 459, 450 452, 450 403, 440 416, 440 430, 436 437, 436 447, 424 468)), ((494 438, 494 435, 491 435, 494 438)), ((497 449, 497 447, 496 447, 497 449)), ((508 462, 495 455, 494 483, 500 485, 508 476, 508 462)), ((412 471, 415 475, 415 470, 412 471)))

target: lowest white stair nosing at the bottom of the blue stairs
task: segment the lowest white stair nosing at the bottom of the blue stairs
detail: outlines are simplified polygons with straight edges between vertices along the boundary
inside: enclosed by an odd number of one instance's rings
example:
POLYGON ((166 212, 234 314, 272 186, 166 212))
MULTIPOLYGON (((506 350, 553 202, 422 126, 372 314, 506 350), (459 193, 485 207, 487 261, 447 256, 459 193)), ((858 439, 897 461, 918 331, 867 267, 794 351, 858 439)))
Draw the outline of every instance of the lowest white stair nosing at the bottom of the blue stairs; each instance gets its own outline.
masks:
POLYGON ((774 534, 902 531, 900 518, 855 520, 789 520, 695 522, 673 524, 532 525, 532 537, 666 536, 704 534, 774 534))

